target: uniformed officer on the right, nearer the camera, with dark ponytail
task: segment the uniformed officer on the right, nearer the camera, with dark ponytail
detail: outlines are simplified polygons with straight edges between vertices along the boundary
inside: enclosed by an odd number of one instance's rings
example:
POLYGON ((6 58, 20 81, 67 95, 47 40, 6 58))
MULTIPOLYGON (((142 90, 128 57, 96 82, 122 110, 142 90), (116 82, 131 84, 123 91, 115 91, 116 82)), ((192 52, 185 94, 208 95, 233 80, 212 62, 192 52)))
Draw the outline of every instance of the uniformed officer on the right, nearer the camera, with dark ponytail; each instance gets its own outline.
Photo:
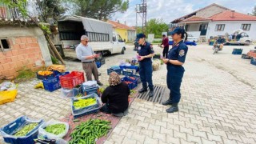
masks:
POLYGON ((178 102, 181 99, 180 88, 185 72, 182 65, 185 62, 188 47, 183 42, 183 39, 185 38, 186 41, 187 38, 184 29, 178 27, 170 34, 174 40, 174 46, 170 49, 168 58, 163 59, 163 62, 167 65, 167 86, 170 89, 170 98, 166 102, 162 102, 162 105, 171 105, 166 112, 174 113, 178 111, 178 102))

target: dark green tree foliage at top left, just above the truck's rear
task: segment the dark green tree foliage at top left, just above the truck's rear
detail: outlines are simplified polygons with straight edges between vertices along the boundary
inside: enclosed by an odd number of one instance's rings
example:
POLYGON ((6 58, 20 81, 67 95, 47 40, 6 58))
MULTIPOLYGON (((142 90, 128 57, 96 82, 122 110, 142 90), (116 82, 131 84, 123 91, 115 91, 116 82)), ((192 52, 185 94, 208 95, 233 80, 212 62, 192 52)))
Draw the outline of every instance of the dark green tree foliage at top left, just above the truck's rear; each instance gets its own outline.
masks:
POLYGON ((61 0, 36 0, 36 6, 42 22, 48 22, 48 18, 54 18, 56 22, 58 16, 66 11, 61 0))

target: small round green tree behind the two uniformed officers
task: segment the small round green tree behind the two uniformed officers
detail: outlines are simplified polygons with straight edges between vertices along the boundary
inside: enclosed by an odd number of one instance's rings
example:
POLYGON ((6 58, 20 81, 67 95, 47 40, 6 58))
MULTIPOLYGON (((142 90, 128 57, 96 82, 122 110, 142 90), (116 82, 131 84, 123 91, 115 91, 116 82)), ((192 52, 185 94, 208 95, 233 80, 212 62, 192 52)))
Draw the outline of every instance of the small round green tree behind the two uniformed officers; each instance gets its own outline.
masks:
POLYGON ((162 19, 150 19, 147 22, 146 34, 155 34, 155 38, 162 38, 162 32, 168 31, 169 26, 162 19))

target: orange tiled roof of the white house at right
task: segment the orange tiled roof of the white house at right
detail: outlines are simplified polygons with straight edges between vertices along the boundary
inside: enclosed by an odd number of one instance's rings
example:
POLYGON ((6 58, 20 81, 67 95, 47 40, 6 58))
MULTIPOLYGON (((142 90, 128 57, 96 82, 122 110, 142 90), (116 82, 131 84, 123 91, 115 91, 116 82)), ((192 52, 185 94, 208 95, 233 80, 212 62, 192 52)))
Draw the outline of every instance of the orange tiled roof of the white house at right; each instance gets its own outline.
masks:
POLYGON ((256 17, 249 14, 242 14, 232 10, 226 10, 222 13, 210 17, 212 21, 256 21, 256 17))

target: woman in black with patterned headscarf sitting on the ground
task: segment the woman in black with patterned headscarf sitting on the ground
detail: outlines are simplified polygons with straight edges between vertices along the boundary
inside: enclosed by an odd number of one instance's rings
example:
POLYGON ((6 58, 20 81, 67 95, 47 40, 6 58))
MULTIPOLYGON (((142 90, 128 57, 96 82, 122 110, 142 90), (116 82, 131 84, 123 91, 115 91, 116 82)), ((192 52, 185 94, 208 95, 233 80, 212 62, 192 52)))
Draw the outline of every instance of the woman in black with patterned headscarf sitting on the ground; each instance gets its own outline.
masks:
POLYGON ((122 117, 128 113, 130 89, 125 82, 121 82, 116 72, 110 73, 109 83, 110 86, 102 94, 102 102, 106 104, 102 106, 101 111, 122 117))

